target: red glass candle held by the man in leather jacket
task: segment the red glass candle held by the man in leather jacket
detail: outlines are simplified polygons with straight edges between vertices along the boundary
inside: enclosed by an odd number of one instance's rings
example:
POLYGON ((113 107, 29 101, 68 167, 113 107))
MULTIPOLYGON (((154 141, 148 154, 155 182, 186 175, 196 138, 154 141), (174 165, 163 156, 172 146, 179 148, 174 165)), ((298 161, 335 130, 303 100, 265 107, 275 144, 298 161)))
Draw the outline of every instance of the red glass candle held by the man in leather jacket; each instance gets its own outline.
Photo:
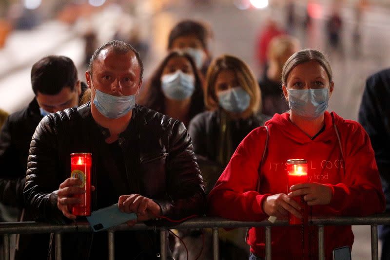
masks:
POLYGON ((92 153, 71 153, 70 163, 71 177, 80 179, 82 181, 80 187, 85 189, 85 193, 74 195, 75 198, 81 199, 81 203, 73 205, 72 214, 75 216, 90 216, 92 153))

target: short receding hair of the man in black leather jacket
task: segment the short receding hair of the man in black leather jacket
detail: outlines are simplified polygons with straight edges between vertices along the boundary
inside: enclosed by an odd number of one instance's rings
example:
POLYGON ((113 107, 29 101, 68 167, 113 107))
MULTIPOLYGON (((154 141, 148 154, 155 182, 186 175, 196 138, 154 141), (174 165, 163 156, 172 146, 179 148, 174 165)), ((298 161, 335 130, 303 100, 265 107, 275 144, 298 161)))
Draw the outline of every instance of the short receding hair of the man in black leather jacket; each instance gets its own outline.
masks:
POLYGON ((94 52, 94 54, 92 55, 92 57, 91 57, 91 59, 89 61, 89 65, 88 65, 88 71, 89 71, 90 74, 92 74, 94 61, 98 58, 98 56, 101 53, 101 51, 103 51, 105 49, 108 49, 108 48, 112 48, 112 50, 115 53, 117 53, 117 54, 126 54, 128 52, 133 52, 136 55, 136 58, 137 58, 137 61, 138 61, 138 64, 139 64, 139 68, 141 69, 141 74, 139 75, 139 80, 142 79, 143 63, 142 63, 142 60, 141 60, 141 56, 139 56, 139 53, 137 52, 137 50, 133 46, 131 46, 129 43, 121 41, 121 40, 109 41, 109 42, 103 44, 102 46, 100 46, 94 52))

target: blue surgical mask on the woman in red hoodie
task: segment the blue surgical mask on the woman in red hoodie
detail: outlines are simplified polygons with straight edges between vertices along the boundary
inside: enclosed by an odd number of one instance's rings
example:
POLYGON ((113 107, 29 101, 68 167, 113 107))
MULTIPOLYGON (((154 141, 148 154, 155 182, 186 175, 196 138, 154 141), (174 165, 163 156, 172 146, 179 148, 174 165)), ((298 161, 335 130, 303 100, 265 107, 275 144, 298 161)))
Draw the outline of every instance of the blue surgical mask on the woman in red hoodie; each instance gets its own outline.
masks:
POLYGON ((289 107, 292 112, 313 120, 328 108, 329 89, 288 90, 289 107))

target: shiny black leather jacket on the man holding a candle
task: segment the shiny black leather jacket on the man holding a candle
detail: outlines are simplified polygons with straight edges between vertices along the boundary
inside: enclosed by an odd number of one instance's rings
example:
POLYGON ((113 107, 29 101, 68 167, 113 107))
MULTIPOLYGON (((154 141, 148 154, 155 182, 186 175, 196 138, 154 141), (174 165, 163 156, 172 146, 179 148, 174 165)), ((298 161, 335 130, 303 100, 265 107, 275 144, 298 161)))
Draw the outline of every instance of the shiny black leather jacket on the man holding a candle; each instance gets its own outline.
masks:
MULTIPOLYGON (((72 152, 91 152, 93 158, 102 154, 103 158, 110 157, 101 149, 109 131, 96 124, 90 106, 88 102, 78 109, 50 114, 42 119, 34 133, 24 198, 36 220, 68 222, 57 207, 57 189, 70 177, 72 152)), ((191 138, 180 121, 136 105, 129 126, 119 135, 118 143, 125 158, 127 181, 121 182, 122 179, 114 174, 105 177, 116 190, 123 195, 138 193, 154 199, 160 205, 162 215, 171 219, 203 213, 203 181, 191 138)), ((96 185, 99 170, 92 169, 93 185, 96 185)), ((92 211, 98 209, 98 192, 101 190, 96 186, 91 199, 92 211)), ((69 235, 72 236, 78 238, 76 246, 79 249, 71 245, 74 239, 63 239, 64 259, 88 259, 91 234, 69 235)), ((158 242, 151 246, 156 245, 159 247, 158 242)), ((132 243, 128 247, 126 257, 131 259, 133 254, 137 255, 138 248, 132 243)))

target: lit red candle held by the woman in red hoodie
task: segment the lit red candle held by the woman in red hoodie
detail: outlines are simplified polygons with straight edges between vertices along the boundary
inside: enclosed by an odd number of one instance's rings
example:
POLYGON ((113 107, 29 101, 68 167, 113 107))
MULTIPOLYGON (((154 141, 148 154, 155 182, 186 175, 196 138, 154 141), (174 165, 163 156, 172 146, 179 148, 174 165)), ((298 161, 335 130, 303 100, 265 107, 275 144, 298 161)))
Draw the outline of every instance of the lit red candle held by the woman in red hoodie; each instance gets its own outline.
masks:
MULTIPOLYGON (((290 192, 290 187, 298 183, 307 183, 308 182, 308 164, 306 160, 303 159, 290 159, 287 160, 287 174, 288 174, 288 189, 290 192)), ((301 205, 301 214, 302 217, 305 216, 308 212, 308 205, 304 202, 303 196, 295 196, 292 198, 298 204, 301 205)), ((301 224, 302 219, 299 219, 289 213, 289 223, 292 225, 301 224)))

